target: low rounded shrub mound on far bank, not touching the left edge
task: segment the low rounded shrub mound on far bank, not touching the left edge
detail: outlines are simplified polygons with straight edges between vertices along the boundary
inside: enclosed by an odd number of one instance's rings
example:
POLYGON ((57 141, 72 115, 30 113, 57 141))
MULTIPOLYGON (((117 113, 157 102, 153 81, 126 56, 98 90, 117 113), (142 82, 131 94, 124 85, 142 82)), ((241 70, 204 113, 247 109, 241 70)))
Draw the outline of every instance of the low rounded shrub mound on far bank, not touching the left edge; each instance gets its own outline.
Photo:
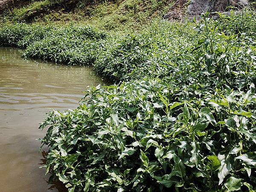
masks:
POLYGON ((101 45, 99 40, 105 37, 104 32, 89 26, 69 26, 54 30, 42 41, 31 44, 23 55, 63 64, 89 65, 96 59, 101 45))

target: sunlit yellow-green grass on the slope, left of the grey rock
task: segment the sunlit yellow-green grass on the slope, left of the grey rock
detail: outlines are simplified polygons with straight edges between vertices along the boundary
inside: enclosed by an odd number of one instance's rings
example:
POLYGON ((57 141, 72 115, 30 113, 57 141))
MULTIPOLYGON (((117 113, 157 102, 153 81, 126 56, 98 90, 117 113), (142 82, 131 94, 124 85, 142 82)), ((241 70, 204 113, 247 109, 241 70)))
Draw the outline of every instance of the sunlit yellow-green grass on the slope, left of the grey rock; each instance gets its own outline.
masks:
POLYGON ((124 32, 143 29, 152 19, 162 17, 171 5, 170 0, 40 0, 6 12, 2 20, 55 25, 79 22, 124 32))

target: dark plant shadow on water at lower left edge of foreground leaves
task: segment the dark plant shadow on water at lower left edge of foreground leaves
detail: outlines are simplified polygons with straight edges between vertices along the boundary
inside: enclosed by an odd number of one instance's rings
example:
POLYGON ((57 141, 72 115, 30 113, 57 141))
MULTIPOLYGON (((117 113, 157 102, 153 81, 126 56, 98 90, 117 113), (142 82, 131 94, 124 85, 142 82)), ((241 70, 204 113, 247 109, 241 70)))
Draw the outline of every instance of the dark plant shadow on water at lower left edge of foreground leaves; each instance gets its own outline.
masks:
MULTIPOLYGON (((39 163, 39 165, 41 166, 44 166, 47 164, 47 159, 46 159, 46 156, 48 154, 48 152, 46 151, 42 151, 42 159, 40 159, 42 161, 42 163, 39 163)), ((52 171, 49 170, 49 173, 48 175, 51 175, 52 174, 52 171)), ((49 177, 49 180, 46 180, 44 178, 44 180, 46 181, 46 183, 49 185, 49 188, 47 190, 55 190, 55 191, 58 191, 58 192, 67 192, 67 188, 65 187, 65 185, 63 183, 61 183, 61 181, 59 180, 52 180, 52 177, 50 176, 49 177)))

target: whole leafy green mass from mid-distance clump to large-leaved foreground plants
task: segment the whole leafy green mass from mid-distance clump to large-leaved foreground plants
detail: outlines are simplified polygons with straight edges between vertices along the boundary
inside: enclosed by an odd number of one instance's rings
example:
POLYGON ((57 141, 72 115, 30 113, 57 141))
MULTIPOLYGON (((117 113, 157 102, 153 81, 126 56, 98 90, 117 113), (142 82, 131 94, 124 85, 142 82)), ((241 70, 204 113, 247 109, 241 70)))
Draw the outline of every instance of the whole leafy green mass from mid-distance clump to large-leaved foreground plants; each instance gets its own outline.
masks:
POLYGON ((94 68, 126 82, 48 114, 52 180, 69 192, 256 190, 256 41, 227 27, 233 15, 208 17, 104 40, 94 68))

